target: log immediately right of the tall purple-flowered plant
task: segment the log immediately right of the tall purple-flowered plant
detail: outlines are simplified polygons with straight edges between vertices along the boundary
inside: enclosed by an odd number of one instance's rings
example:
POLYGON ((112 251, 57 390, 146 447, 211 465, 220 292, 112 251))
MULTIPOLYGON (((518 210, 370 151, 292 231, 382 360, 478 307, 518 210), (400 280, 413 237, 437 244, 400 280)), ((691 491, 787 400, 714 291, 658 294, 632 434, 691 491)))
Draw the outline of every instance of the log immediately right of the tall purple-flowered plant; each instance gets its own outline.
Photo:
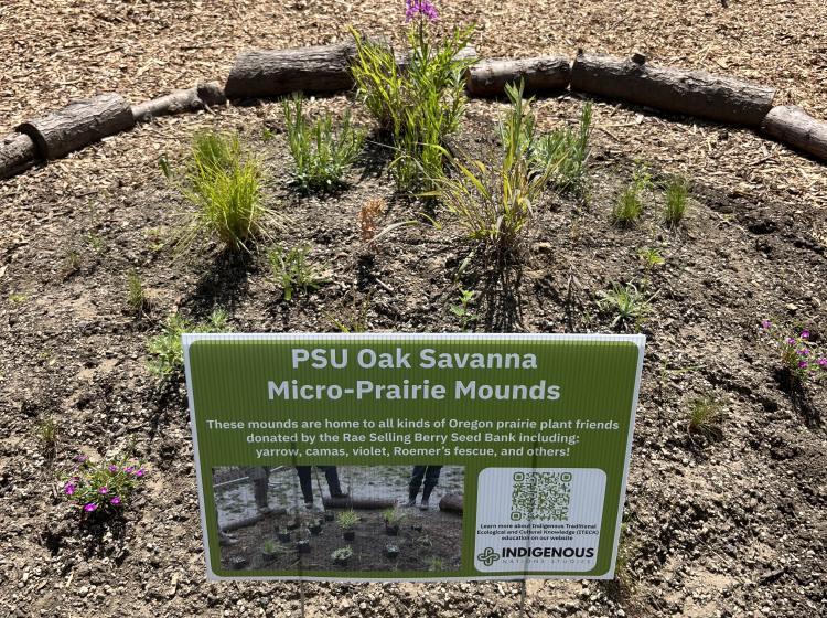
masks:
POLYGON ((571 65, 561 56, 483 60, 469 70, 468 89, 477 96, 501 95, 506 84, 519 85, 524 79, 527 93, 543 93, 567 88, 570 78, 571 65))

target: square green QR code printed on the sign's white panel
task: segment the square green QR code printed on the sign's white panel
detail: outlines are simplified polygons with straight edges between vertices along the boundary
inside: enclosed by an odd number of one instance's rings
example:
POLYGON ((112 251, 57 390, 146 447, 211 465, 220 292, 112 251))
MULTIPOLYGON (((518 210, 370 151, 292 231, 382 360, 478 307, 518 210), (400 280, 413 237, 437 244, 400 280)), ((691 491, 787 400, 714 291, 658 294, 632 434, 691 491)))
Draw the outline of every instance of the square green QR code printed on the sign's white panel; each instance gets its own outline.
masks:
POLYGON ((568 521, 571 472, 514 472, 512 521, 568 521))

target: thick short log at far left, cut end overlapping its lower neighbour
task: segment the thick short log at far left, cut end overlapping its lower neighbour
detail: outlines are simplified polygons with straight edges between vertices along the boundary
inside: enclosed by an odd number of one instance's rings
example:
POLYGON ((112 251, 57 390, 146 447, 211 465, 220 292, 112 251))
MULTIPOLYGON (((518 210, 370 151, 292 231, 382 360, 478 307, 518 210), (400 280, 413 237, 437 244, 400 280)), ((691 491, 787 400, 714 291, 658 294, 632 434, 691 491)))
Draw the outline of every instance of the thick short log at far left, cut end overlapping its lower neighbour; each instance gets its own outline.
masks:
POLYGON ((129 104, 119 94, 107 93, 72 100, 49 116, 23 122, 17 130, 34 140, 43 159, 57 159, 132 127, 135 118, 129 104))

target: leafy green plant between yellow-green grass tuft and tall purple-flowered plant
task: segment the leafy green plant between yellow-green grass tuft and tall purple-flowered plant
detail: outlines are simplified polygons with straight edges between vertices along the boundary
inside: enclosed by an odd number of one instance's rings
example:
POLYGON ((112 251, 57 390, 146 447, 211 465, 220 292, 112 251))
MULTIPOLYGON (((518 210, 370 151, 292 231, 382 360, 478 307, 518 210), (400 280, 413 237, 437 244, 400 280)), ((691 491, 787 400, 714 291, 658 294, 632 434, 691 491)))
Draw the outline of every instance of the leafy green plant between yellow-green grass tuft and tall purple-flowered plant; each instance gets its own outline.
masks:
POLYGON ((365 140, 365 129, 351 126, 347 110, 341 127, 333 129, 330 114, 308 127, 302 114, 302 94, 293 93, 281 103, 287 119, 287 137, 293 158, 293 179, 305 189, 330 190, 344 184, 347 168, 356 160, 365 140))

